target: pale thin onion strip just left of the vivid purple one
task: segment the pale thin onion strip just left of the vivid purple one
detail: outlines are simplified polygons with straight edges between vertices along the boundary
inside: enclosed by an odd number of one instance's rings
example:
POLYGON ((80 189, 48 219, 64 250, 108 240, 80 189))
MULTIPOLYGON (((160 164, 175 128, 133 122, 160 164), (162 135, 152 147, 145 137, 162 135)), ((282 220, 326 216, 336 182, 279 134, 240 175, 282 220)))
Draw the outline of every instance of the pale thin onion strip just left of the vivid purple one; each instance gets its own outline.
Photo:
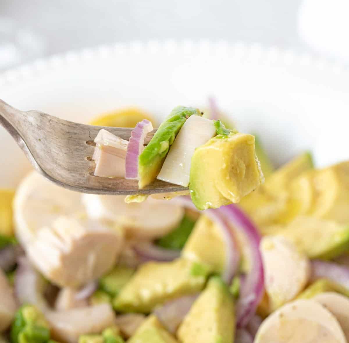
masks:
MULTIPOLYGON (((173 202, 180 203, 184 207, 187 207, 191 210, 198 211, 194 204, 192 203, 190 197, 188 196, 180 196, 173 198, 173 202)), ((225 219, 224 216, 221 215, 221 213, 216 209, 208 209, 205 211, 202 211, 202 213, 205 213, 207 217, 209 217, 212 221, 214 221, 217 226, 221 229, 223 239, 225 242, 225 245, 227 249, 225 249, 225 267, 224 271, 222 273, 222 279, 227 283, 230 284, 231 280, 233 279, 238 267, 239 267, 239 260, 240 260, 240 255, 239 255, 239 249, 237 242, 235 240, 235 236, 227 223, 227 220, 225 219)))

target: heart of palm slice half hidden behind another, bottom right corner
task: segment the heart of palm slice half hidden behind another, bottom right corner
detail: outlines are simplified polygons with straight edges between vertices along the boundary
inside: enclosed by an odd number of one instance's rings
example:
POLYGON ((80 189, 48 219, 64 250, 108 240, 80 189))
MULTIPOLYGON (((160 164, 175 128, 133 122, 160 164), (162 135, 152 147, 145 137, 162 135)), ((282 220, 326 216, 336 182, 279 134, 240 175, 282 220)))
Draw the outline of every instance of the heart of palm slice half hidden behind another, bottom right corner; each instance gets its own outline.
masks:
POLYGON ((342 294, 325 292, 312 298, 326 307, 339 321, 347 341, 349 341, 349 299, 342 294))

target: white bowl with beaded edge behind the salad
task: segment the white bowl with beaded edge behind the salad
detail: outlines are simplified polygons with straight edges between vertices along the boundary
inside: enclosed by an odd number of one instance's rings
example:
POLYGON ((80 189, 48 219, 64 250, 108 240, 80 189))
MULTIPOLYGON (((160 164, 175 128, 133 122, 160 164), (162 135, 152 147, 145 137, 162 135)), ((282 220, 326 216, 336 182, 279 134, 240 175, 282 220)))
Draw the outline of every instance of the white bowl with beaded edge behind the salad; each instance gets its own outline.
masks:
MULTIPOLYGON (((138 105, 163 118, 217 97, 240 131, 257 133, 279 164, 303 150, 319 166, 349 158, 349 71, 310 56, 224 42, 117 44, 67 53, 0 75, 0 98, 77 122, 138 105)), ((0 187, 29 164, 0 127, 0 187)))

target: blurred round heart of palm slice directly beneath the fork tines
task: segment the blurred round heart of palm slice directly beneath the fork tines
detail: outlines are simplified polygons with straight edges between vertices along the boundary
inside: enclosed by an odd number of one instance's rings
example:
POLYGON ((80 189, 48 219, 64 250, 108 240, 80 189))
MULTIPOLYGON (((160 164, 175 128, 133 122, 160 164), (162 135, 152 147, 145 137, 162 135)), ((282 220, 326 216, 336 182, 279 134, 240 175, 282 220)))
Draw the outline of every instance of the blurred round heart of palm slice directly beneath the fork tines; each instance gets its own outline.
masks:
POLYGON ((148 197, 142 203, 125 203, 124 196, 84 194, 88 216, 109 219, 126 228, 132 238, 155 239, 170 232, 184 215, 181 206, 148 197))

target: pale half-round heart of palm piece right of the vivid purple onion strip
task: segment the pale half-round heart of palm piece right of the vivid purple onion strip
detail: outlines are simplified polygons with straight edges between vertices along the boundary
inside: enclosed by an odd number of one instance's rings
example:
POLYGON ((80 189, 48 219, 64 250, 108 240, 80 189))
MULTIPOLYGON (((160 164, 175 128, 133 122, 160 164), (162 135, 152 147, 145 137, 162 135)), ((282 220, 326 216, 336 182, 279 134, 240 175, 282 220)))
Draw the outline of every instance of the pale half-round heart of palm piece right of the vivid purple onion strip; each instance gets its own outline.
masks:
POLYGON ((310 277, 307 256, 282 236, 265 236, 260 243, 265 289, 273 309, 294 299, 310 277))

